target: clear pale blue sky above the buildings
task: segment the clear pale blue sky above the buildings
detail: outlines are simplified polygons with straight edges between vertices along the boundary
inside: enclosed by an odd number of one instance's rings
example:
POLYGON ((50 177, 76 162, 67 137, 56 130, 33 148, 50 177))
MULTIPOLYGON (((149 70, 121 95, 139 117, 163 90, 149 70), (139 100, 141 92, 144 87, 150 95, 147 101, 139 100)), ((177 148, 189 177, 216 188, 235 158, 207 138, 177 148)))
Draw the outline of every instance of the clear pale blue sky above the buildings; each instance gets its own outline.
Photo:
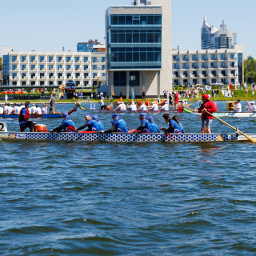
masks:
MULTIPOLYGON (((154 0, 153 0, 154 2, 154 0)), ((0 46, 14 50, 76 50, 77 42, 105 37, 109 6, 130 6, 131 0, 0 0, 0 46)), ((245 58, 256 58, 255 0, 172 0, 172 47, 198 50, 203 16, 210 26, 238 33, 245 58)), ((0 47, 0 48, 1 48, 0 47)))

